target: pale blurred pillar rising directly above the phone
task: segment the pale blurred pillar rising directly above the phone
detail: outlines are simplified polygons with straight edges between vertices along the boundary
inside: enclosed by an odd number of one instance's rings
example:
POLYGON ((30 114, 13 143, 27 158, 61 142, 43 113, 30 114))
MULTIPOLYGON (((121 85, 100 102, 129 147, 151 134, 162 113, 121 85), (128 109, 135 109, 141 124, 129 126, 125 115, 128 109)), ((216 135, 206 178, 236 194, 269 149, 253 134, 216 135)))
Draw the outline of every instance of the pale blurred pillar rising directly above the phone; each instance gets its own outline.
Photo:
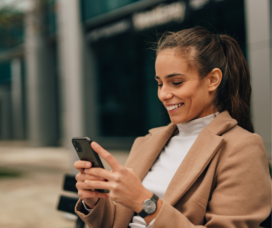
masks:
POLYGON ((84 136, 83 51, 80 7, 77 0, 58 0, 58 57, 61 85, 62 144, 70 148, 73 137, 84 136))

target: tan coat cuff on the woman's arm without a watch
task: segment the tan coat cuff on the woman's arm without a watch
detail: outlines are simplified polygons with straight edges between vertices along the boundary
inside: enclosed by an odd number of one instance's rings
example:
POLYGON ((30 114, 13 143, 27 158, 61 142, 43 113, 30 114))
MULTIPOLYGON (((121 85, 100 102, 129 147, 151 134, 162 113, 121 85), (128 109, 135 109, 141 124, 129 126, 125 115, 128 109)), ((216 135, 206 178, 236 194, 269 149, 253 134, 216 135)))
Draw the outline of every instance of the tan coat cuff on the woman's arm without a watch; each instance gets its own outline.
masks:
POLYGON ((75 208, 76 214, 90 228, 112 228, 115 215, 115 204, 109 198, 100 198, 95 208, 88 213, 82 200, 79 199, 75 208))

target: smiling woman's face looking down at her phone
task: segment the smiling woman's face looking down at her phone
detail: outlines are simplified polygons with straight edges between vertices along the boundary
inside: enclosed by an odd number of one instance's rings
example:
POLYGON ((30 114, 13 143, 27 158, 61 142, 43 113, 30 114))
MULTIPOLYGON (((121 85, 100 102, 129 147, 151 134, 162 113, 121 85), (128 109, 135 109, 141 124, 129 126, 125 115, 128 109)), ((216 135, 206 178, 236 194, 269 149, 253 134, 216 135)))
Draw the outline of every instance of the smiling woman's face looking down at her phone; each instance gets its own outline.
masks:
POLYGON ((172 123, 180 124, 206 116, 205 107, 212 99, 209 77, 200 80, 198 72, 188 67, 185 58, 175 56, 174 51, 158 54, 155 70, 158 97, 168 110, 172 123))

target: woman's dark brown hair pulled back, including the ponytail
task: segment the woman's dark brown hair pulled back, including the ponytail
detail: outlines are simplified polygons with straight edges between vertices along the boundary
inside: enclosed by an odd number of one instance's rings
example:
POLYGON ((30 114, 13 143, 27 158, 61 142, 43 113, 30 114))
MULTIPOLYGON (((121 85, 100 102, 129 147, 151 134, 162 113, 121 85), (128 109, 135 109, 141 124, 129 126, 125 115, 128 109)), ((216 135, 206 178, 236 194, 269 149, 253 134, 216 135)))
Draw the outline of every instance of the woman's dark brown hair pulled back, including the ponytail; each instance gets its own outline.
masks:
POLYGON ((164 33, 157 43, 156 54, 166 49, 192 57, 193 67, 199 72, 200 79, 214 68, 219 68, 223 76, 211 105, 219 112, 227 110, 237 120, 238 126, 254 132, 250 112, 249 68, 234 38, 224 34, 215 35, 203 27, 194 27, 164 33))

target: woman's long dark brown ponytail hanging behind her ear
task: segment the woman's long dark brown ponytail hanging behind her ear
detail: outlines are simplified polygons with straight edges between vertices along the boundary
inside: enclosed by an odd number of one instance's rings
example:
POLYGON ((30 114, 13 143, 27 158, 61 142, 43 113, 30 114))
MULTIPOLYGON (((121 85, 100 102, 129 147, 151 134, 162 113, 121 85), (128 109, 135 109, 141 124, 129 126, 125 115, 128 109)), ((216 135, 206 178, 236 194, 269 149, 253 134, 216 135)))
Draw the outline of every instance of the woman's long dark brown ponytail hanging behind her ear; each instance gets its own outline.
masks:
POLYGON ((227 110, 231 117, 237 120, 238 126, 254 133, 250 112, 251 85, 247 61, 234 38, 227 35, 220 37, 227 60, 227 83, 226 89, 223 89, 225 94, 218 93, 218 109, 227 110))

